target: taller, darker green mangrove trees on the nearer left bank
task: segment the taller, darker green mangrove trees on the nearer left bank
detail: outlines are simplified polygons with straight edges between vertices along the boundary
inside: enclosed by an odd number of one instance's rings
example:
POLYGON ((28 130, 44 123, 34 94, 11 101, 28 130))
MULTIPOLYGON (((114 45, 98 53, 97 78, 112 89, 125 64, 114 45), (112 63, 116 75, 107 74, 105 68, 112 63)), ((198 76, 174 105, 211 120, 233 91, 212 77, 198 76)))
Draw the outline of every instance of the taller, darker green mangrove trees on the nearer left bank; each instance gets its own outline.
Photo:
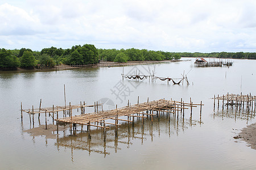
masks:
POLYGON ((89 65, 98 62, 98 50, 94 45, 76 45, 71 49, 56 47, 44 48, 40 52, 22 48, 20 50, 0 49, 0 69, 11 70, 17 67, 33 69, 35 67, 54 67, 61 63, 67 65, 89 65))

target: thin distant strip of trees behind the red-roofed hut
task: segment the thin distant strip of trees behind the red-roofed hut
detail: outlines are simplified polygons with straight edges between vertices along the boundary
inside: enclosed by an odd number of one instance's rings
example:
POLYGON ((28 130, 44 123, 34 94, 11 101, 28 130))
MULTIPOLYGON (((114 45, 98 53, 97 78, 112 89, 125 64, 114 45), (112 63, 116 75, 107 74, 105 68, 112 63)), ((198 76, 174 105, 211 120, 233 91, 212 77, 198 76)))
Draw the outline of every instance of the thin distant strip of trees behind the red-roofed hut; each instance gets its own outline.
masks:
POLYGON ((179 53, 181 57, 215 57, 215 58, 242 58, 242 59, 256 59, 256 53, 244 53, 244 52, 236 52, 236 53, 179 53))

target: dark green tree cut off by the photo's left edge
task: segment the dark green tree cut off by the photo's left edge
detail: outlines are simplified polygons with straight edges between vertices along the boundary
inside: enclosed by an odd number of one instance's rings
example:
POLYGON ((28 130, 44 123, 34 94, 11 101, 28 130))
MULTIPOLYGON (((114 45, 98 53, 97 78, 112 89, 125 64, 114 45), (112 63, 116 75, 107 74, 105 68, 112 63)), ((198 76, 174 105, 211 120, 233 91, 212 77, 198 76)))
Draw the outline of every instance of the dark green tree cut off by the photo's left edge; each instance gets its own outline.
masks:
POLYGON ((19 59, 11 53, 11 50, 0 49, 0 68, 16 69, 19 65, 19 59))

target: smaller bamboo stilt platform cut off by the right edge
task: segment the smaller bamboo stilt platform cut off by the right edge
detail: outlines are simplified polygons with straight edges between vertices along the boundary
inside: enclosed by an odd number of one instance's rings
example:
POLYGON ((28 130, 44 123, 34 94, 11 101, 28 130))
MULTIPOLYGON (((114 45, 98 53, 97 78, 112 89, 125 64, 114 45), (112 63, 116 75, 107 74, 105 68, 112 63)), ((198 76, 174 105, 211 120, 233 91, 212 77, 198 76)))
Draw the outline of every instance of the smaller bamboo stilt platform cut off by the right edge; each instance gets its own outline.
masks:
POLYGON ((224 105, 226 105, 227 109, 229 106, 236 107, 237 110, 243 110, 246 107, 246 112, 247 113, 253 113, 255 114, 255 108, 256 108, 256 96, 252 96, 251 94, 247 95, 236 95, 236 94, 227 94, 227 95, 222 95, 222 96, 215 96, 214 95, 214 109, 215 109, 215 100, 217 100, 217 108, 220 106, 220 100, 222 101, 222 109, 224 109, 224 105), (224 104, 224 102, 226 103, 224 104), (254 104, 253 104, 254 103, 254 104), (245 106, 246 105, 246 106, 245 106))

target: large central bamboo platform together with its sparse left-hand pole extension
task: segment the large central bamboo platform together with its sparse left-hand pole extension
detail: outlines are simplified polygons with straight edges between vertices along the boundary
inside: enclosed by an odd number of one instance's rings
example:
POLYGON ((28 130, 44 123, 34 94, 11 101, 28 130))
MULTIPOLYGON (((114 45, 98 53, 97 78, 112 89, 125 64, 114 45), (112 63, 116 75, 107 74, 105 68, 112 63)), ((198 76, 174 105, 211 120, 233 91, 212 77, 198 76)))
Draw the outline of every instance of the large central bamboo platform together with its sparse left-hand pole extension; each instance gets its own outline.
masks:
MULTIPOLYGON (((115 136, 117 137, 117 131, 118 126, 121 124, 118 124, 118 121, 125 121, 128 122, 128 125, 132 122, 134 125, 134 118, 142 118, 142 122, 144 121, 144 118, 150 117, 151 124, 153 121, 153 116, 162 113, 173 113, 178 114, 179 112, 183 113, 184 117, 184 111, 185 109, 191 110, 191 118, 192 118, 192 108, 200 106, 200 117, 201 117, 201 109, 204 104, 202 104, 202 101, 200 104, 193 104, 193 102, 190 99, 190 103, 184 103, 184 101, 181 99, 180 101, 174 101, 174 100, 154 100, 154 101, 148 101, 146 103, 139 103, 139 96, 138 96, 138 103, 131 105, 128 100, 128 104, 126 107, 117 108, 109 111, 103 111, 102 104, 98 104, 94 102, 94 105, 86 105, 85 102, 82 104, 80 101, 80 105, 65 105, 65 106, 54 106, 48 107, 48 108, 41 108, 42 101, 40 100, 40 106, 39 108, 34 109, 34 106, 32 106, 32 109, 22 109, 22 103, 20 105, 21 109, 21 118, 22 112, 26 112, 30 116, 30 124, 33 123, 34 128, 34 115, 38 114, 38 120, 40 121, 40 113, 45 114, 45 123, 46 123, 46 129, 47 129, 47 113, 49 116, 52 117, 52 122, 54 124, 54 121, 56 121, 57 125, 57 134, 59 134, 59 125, 67 125, 69 124, 71 126, 71 133, 72 133, 72 125, 73 129, 76 129, 76 125, 87 125, 88 136, 90 136, 90 126, 94 126, 97 128, 104 129, 104 140, 106 139, 106 129, 110 129, 110 126, 115 126, 115 136), (101 105, 101 111, 99 111, 98 106, 101 105), (85 107, 94 107, 93 113, 85 113, 85 107), (79 115, 72 115, 72 110, 77 109, 77 112, 79 112, 79 109, 81 110, 81 114, 79 115), (59 112, 63 112, 63 117, 59 112), (156 113, 156 114, 155 114, 156 113), (56 118, 55 118, 56 115, 56 118), (32 116, 32 121, 31 121, 32 116), (60 117, 62 118, 60 118, 60 117), (69 116, 69 117, 67 117, 69 116), (127 116, 127 120, 123 119, 123 117, 127 116), (94 123, 94 124, 93 124, 94 123)), ((159 116, 158 116, 159 117, 159 116)))

